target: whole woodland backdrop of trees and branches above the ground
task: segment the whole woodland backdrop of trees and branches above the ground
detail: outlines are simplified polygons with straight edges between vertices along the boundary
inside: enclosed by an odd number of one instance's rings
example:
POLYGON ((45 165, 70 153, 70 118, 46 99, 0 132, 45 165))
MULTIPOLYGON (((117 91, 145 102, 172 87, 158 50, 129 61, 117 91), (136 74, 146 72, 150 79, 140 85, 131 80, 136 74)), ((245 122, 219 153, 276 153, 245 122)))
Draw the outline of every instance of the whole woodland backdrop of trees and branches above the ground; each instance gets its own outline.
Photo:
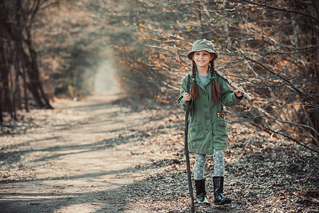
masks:
POLYGON ((242 122, 242 133, 319 145, 318 1, 0 2, 1 111, 13 117, 29 102, 50 107, 55 95, 89 94, 103 58, 114 60, 128 94, 175 104, 190 72, 185 55, 207 38, 217 69, 255 99, 229 111, 230 122, 242 122), (22 9, 28 16, 19 19, 22 9))

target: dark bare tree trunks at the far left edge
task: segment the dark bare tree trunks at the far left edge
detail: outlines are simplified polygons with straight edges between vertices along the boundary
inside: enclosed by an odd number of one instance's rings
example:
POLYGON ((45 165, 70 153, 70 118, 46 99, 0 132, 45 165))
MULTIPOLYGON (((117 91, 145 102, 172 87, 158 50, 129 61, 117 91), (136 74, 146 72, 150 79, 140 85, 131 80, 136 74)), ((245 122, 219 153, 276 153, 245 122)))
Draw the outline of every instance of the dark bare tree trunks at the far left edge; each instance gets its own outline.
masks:
POLYGON ((9 111, 16 119, 16 109, 29 109, 28 91, 38 107, 52 108, 40 82, 37 53, 33 49, 33 19, 46 1, 0 1, 0 114, 9 111), (23 92, 21 92, 21 89, 23 92))

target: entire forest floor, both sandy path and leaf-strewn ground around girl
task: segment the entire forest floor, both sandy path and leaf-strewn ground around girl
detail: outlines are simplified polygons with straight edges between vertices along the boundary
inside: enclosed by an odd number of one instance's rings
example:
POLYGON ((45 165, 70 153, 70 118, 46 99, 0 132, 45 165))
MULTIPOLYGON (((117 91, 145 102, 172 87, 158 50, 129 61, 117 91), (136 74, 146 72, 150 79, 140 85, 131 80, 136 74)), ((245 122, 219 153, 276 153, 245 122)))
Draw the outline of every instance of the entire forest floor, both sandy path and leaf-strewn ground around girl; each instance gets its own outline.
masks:
MULTIPOLYGON (((0 212, 188 212, 180 109, 121 94, 53 107, 2 128, 0 212)), ((190 161, 193 169, 193 154, 190 161)), ((319 155, 232 124, 225 162, 232 204, 196 212, 319 212, 319 155)))

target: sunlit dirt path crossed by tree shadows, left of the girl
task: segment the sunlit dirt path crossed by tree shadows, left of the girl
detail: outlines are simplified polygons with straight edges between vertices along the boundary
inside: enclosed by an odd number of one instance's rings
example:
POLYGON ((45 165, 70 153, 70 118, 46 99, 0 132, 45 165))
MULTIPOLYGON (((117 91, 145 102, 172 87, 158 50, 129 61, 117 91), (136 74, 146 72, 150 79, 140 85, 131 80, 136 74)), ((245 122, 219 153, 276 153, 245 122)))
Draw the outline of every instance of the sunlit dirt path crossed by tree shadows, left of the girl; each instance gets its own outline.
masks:
POLYGON ((145 117, 121 107, 118 98, 57 100, 52 111, 26 114, 40 124, 1 136, 0 209, 135 212, 126 207, 125 188, 143 177, 138 165, 148 163, 132 134, 145 117))

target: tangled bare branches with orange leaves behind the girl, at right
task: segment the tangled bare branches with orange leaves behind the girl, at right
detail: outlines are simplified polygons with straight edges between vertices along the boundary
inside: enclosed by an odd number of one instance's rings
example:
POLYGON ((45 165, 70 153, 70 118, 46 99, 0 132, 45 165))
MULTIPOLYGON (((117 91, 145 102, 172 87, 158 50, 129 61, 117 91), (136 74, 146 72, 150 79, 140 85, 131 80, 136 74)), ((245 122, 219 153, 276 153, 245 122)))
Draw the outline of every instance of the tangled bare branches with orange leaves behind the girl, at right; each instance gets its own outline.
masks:
POLYGON ((254 104, 241 105, 232 122, 246 121, 251 129, 308 148, 319 145, 318 1, 134 2, 140 4, 135 40, 144 45, 143 54, 121 45, 118 50, 146 65, 148 73, 130 68, 131 62, 126 69, 161 88, 161 100, 173 101, 178 79, 189 72, 185 53, 195 39, 207 38, 220 54, 217 69, 256 97, 254 104))

